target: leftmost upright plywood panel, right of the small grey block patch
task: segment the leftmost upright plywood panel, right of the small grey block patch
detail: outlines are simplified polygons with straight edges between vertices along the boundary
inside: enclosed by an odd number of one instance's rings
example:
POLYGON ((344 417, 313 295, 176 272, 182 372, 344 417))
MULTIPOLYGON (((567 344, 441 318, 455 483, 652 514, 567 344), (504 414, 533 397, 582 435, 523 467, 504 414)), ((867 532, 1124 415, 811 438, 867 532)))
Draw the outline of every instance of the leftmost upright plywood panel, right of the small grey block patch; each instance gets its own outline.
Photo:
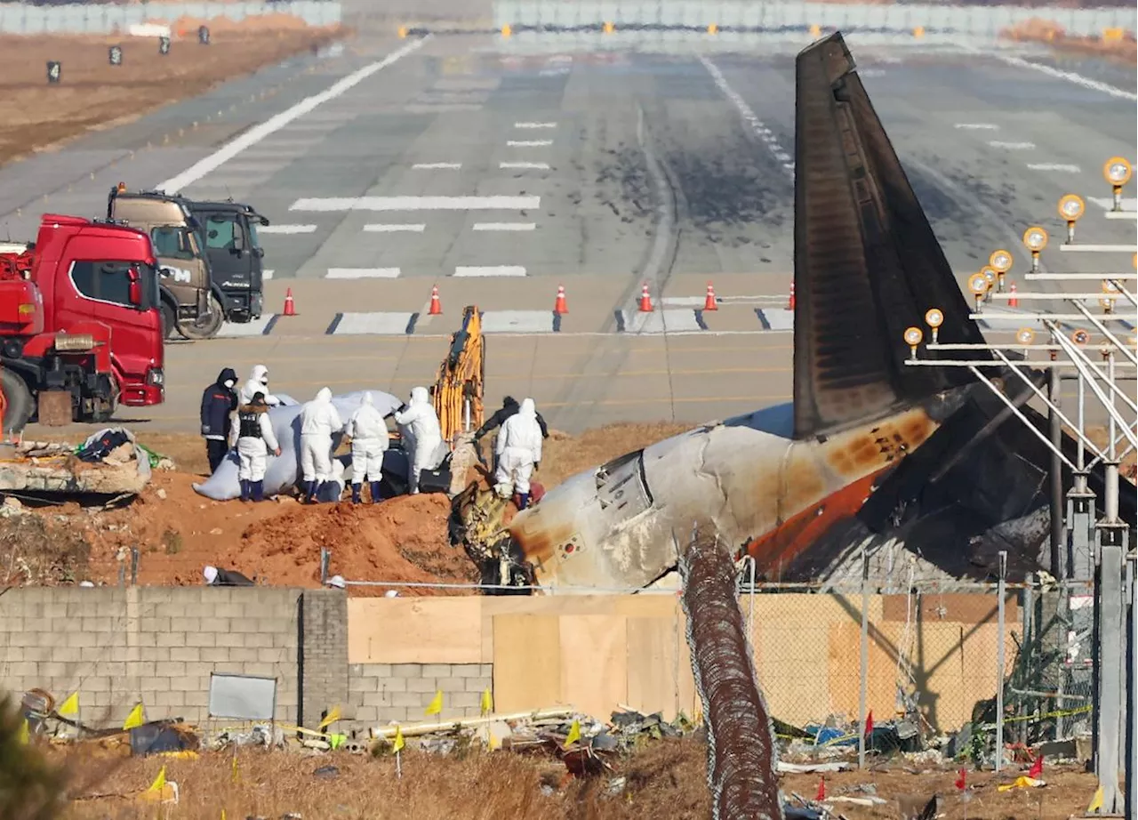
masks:
POLYGON ((495 712, 528 712, 564 704, 558 621, 551 615, 494 618, 495 712))

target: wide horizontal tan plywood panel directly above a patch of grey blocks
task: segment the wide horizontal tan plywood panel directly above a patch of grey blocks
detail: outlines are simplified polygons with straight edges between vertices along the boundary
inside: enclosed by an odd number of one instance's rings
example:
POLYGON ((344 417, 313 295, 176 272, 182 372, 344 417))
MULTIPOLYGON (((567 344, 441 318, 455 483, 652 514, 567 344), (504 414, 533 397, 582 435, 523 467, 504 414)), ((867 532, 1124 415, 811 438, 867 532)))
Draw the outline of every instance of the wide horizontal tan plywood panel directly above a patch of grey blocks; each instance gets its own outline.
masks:
POLYGON ((483 663, 481 598, 349 598, 348 663, 483 663))

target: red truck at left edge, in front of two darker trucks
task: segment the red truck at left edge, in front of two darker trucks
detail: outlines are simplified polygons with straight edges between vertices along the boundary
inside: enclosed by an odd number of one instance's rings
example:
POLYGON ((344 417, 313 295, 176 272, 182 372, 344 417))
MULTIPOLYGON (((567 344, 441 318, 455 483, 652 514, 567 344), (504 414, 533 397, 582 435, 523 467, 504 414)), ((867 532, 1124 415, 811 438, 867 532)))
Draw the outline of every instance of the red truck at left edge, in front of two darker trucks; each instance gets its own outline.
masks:
POLYGON ((22 427, 34 415, 32 396, 44 391, 69 392, 82 421, 109 418, 119 402, 162 403, 150 238, 121 224, 44 214, 33 246, 0 254, 0 363, 6 429, 22 427))

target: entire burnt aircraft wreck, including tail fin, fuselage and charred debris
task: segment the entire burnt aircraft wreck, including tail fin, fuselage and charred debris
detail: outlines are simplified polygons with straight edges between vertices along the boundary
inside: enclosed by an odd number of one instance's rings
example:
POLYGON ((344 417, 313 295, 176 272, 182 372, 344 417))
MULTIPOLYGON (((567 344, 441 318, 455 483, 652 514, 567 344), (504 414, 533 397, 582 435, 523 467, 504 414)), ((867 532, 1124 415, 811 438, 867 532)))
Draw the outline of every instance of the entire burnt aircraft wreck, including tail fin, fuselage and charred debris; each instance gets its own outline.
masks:
MULTIPOLYGON (((859 573, 863 549, 877 576, 982 579, 1005 549, 1011 575, 1041 568, 1050 453, 967 369, 905 366, 902 334, 932 308, 941 343, 983 336, 842 36, 799 54, 795 73, 793 403, 578 474, 508 528, 468 489, 452 535, 490 582, 649 587, 693 524, 752 556, 760 580, 836 580, 859 573)), ((1046 430, 1028 387, 995 372, 1046 430)), ((1102 493, 1100 467, 1090 485, 1102 493)), ((1129 482, 1120 510, 1138 520, 1129 482)))

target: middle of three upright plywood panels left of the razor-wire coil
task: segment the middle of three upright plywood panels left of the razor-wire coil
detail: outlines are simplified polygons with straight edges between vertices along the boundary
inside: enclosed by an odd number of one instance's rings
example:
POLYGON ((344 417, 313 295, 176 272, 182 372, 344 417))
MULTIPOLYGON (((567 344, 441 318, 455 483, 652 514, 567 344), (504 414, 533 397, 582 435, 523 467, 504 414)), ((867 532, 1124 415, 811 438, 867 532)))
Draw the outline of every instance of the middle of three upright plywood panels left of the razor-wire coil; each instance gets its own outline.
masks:
POLYGON ((585 714, 608 719, 628 698, 627 618, 562 615, 560 621, 561 697, 585 714))

